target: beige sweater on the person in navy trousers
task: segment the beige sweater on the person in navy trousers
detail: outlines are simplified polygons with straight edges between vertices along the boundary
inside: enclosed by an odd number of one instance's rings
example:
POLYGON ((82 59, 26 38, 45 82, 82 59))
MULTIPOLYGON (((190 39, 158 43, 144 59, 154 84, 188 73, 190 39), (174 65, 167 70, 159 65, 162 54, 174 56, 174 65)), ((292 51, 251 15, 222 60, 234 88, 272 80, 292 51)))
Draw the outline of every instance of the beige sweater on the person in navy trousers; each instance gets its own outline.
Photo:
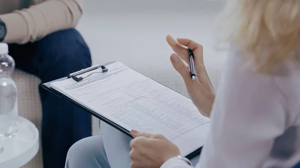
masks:
POLYGON ((0 0, 0 19, 7 29, 3 42, 33 42, 73 28, 81 14, 78 0, 0 0))

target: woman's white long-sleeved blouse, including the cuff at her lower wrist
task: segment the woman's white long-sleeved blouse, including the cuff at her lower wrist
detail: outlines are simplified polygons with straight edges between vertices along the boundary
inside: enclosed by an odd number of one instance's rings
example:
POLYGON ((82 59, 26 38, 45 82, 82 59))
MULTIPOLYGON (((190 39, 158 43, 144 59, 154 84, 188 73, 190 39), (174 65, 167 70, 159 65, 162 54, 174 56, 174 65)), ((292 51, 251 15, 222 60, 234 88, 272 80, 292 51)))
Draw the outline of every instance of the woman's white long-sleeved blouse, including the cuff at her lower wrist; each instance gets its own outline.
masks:
MULTIPOLYGON (((275 75, 245 68, 231 49, 211 112, 210 134, 195 168, 291 168, 300 162, 300 66, 275 75)), ((191 168, 172 158, 161 168, 191 168)))

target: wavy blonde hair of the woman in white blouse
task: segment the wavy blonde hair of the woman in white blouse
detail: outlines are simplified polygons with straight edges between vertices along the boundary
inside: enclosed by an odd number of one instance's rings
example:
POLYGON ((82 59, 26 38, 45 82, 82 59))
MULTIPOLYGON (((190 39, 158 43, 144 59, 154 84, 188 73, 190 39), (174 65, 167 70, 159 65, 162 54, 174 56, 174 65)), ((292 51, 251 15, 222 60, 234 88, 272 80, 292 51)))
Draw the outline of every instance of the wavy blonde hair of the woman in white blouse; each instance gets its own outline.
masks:
POLYGON ((300 59, 300 0, 228 0, 219 23, 221 39, 250 53, 258 72, 300 59))

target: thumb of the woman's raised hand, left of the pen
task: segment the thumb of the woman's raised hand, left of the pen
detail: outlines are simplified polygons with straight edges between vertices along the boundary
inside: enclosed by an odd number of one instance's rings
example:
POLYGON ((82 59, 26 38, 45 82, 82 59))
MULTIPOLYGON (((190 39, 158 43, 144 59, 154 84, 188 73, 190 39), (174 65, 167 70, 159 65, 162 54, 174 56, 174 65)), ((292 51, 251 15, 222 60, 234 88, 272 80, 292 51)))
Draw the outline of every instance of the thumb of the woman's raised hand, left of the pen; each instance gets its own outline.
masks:
POLYGON ((183 80, 190 80, 190 72, 188 70, 188 66, 186 66, 185 62, 179 57, 178 54, 173 53, 170 56, 170 60, 172 62, 173 67, 177 72, 182 76, 183 80))

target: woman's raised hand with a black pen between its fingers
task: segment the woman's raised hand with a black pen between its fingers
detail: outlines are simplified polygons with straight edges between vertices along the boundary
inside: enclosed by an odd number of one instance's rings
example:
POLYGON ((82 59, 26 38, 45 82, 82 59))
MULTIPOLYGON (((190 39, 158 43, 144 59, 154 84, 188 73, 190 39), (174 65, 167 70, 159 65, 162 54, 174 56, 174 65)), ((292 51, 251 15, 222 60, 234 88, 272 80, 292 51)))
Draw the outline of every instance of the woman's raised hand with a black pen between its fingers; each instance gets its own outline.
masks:
POLYGON ((175 40, 171 35, 166 36, 166 41, 175 51, 175 53, 170 56, 170 60, 174 68, 182 76, 190 99, 203 116, 209 117, 215 91, 203 63, 202 46, 190 39, 177 38, 177 40, 175 40), (196 69, 195 80, 192 80, 190 76, 187 64, 189 62, 189 56, 186 47, 194 52, 194 64, 196 69))

